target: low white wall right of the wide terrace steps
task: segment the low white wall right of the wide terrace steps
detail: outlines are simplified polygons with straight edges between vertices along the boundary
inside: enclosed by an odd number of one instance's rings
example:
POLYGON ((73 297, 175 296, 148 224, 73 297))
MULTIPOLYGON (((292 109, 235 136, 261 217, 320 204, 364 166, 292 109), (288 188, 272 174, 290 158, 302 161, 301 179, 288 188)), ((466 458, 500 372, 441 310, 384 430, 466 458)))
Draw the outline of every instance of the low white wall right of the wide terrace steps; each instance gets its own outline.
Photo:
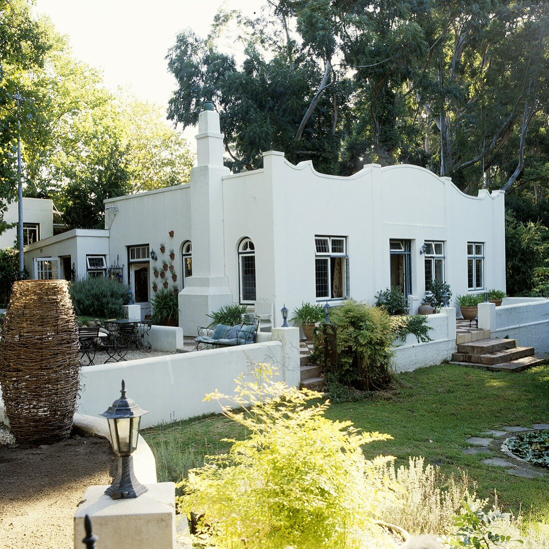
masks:
POLYGON ((534 347, 536 356, 549 353, 549 300, 542 297, 506 298, 500 307, 479 304, 479 328, 492 337, 509 337, 520 347, 534 347))

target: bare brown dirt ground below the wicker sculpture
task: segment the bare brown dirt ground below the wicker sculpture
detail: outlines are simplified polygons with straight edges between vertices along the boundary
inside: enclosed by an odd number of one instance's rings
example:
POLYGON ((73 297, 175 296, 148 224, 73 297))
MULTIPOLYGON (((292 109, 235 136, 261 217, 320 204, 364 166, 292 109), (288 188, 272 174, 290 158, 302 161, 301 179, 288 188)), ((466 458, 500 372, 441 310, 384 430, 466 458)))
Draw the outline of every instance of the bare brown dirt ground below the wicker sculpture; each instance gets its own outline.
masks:
POLYGON ((71 549, 72 518, 86 488, 110 484, 116 467, 109 441, 98 437, 0 444, 0 549, 71 549))

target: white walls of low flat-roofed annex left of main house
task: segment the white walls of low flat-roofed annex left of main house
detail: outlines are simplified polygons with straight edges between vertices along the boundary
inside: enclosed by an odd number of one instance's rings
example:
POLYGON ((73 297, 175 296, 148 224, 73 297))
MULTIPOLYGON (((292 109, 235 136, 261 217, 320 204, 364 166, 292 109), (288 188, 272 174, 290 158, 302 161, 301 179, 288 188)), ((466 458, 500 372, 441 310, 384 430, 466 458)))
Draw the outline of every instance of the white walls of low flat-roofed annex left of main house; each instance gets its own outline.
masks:
POLYGON ((61 232, 49 239, 33 242, 25 246, 25 268, 35 278, 35 258, 50 258, 59 260, 59 278, 64 278, 61 258, 70 257, 70 264, 74 263, 76 276, 87 276, 87 255, 105 256, 107 266, 109 257, 109 231, 103 229, 72 229, 61 232))

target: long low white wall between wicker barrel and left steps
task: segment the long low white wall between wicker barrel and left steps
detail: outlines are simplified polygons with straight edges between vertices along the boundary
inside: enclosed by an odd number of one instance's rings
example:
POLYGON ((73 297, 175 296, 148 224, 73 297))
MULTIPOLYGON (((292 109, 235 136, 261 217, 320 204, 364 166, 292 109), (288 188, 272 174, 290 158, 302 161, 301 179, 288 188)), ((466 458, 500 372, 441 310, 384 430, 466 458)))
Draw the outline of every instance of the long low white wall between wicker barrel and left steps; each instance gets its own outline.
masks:
POLYGON ((275 328, 272 337, 264 343, 82 368, 77 409, 93 416, 104 412, 118 398, 124 379, 128 396, 149 411, 141 419, 143 427, 219 412, 217 402, 203 402, 204 395, 215 389, 231 395, 234 379, 256 362, 271 363, 281 381, 299 386, 299 330, 275 328))

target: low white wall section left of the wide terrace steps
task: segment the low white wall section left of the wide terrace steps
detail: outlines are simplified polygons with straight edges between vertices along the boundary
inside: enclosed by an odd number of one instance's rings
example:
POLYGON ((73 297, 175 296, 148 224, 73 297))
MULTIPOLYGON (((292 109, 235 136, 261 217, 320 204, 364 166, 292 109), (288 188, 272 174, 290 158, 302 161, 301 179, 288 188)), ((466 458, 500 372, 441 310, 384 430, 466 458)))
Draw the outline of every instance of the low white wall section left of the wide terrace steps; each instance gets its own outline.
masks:
POLYGON ((412 371, 416 368, 440 364, 456 351, 456 309, 442 308, 438 314, 427 315, 431 341, 418 343, 416 336, 408 334, 405 341, 393 342, 395 370, 412 371))

